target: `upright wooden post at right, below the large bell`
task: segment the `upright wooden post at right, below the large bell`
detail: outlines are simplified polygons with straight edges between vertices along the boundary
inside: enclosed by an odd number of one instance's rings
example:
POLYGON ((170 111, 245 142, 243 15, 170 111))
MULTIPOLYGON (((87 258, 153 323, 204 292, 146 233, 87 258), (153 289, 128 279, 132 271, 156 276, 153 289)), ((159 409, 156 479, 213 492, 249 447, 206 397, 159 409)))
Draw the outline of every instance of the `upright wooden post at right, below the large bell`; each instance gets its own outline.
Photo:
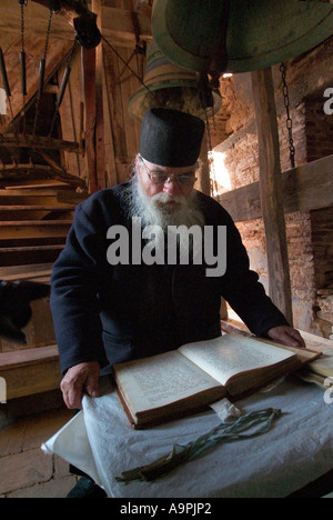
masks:
POLYGON ((280 143, 271 68, 252 72, 252 88, 258 126, 260 192, 266 238, 270 297, 292 324, 280 143))

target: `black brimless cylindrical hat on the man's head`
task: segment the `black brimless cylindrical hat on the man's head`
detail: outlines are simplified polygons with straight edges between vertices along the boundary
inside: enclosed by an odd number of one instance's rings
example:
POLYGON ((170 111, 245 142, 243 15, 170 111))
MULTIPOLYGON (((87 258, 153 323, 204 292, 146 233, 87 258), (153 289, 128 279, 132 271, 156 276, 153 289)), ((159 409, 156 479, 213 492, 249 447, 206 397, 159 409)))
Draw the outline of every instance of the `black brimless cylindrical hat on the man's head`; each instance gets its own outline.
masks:
POLYGON ((148 110, 141 124, 140 153, 159 166, 195 164, 204 129, 204 122, 190 113, 163 108, 148 110))

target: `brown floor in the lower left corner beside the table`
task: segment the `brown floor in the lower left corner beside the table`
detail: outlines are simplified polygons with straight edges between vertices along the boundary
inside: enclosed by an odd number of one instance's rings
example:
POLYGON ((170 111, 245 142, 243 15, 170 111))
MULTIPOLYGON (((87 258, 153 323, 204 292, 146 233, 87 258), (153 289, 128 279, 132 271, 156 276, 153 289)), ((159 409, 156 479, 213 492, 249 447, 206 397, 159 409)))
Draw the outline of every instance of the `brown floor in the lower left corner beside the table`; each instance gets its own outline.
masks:
POLYGON ((61 408, 0 420, 0 498, 65 498, 77 477, 40 446, 71 418, 72 412, 61 408))

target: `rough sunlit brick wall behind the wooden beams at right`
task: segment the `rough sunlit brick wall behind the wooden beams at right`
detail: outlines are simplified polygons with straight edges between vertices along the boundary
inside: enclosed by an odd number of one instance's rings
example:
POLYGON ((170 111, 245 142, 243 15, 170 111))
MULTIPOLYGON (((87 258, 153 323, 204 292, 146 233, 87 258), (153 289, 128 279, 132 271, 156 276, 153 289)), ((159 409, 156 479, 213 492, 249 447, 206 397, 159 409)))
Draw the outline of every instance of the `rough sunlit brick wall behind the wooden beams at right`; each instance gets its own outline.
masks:
MULTIPOLYGON (((323 111, 324 91, 333 87, 333 38, 312 52, 290 60, 287 84, 296 148, 296 166, 333 153, 333 116, 323 111)), ((276 89, 282 171, 291 168, 286 113, 279 66, 273 68, 276 89)), ((224 127, 211 129, 214 152, 223 154, 231 189, 259 180, 258 137, 251 77, 238 74, 221 80, 224 127), (219 142, 219 143, 218 143, 219 142)), ((219 181, 219 173, 218 181, 219 181)), ((221 189, 225 191, 225 187, 221 189)), ((317 293, 333 282, 333 209, 285 216, 294 326, 327 337, 331 333, 333 297, 317 293), (324 316, 325 312, 325 316, 324 316), (325 319, 323 319, 325 318, 325 319)), ((236 223, 248 249, 251 268, 269 290, 265 237, 262 219, 236 223)))

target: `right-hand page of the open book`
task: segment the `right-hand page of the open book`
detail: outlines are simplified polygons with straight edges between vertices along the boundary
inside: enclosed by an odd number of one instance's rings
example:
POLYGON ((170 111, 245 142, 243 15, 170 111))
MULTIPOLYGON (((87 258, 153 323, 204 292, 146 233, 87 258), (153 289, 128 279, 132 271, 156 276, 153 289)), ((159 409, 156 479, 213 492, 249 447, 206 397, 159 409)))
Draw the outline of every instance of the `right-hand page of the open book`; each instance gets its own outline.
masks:
POLYGON ((234 334, 184 344, 179 351, 223 386, 236 373, 269 367, 295 357, 293 352, 283 348, 234 334))

